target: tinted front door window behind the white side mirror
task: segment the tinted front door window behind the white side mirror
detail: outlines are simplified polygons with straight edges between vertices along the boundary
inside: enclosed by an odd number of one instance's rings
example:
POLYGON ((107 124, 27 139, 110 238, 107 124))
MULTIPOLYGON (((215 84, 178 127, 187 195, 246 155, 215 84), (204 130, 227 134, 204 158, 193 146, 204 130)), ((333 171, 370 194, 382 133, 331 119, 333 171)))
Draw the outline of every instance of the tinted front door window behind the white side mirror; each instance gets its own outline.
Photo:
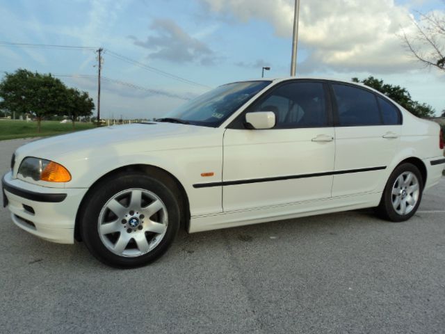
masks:
POLYGON ((261 98, 249 112, 273 111, 275 129, 325 127, 325 91, 318 82, 282 84, 261 98))

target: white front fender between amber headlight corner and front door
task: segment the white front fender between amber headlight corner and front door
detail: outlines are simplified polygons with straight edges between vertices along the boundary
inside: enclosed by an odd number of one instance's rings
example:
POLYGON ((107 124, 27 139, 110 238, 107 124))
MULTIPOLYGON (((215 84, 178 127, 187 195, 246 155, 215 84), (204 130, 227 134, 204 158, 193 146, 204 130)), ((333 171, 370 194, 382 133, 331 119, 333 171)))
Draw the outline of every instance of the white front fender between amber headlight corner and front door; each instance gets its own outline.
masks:
POLYGON ((65 167, 72 171, 70 188, 90 188, 104 175, 125 166, 147 165, 161 168, 175 176, 188 196, 191 216, 222 212, 221 188, 195 189, 193 184, 202 183, 202 173, 213 173, 205 177, 206 182, 221 182, 223 178, 222 146, 159 150, 143 154, 118 154, 113 148, 105 148, 99 154, 88 157, 72 157, 65 161, 65 167))

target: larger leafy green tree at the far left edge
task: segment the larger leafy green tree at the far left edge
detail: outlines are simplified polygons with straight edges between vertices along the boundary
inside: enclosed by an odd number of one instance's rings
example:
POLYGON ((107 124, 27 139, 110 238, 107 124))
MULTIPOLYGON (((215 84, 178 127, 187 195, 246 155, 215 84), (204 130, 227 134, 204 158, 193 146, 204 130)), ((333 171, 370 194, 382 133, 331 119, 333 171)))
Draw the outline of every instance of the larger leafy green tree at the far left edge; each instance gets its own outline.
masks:
POLYGON ((62 81, 51 74, 22 69, 6 74, 0 83, 2 107, 10 112, 31 113, 37 120, 38 132, 45 116, 60 111, 65 90, 62 81))

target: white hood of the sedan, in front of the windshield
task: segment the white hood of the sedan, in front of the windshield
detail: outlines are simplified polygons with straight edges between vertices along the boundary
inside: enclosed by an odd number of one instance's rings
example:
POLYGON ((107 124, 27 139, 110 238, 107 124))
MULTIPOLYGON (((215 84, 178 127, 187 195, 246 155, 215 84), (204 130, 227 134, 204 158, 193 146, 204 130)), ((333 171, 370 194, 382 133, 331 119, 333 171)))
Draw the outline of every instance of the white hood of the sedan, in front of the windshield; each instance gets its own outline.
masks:
POLYGON ((16 159, 39 157, 42 159, 63 159, 68 155, 82 156, 82 152, 95 149, 95 154, 102 150, 118 148, 126 152, 147 152, 187 148, 196 145, 193 138, 205 134, 215 134, 216 129, 197 127, 167 122, 133 123, 100 127, 72 134, 53 136, 23 145, 16 151, 16 159))

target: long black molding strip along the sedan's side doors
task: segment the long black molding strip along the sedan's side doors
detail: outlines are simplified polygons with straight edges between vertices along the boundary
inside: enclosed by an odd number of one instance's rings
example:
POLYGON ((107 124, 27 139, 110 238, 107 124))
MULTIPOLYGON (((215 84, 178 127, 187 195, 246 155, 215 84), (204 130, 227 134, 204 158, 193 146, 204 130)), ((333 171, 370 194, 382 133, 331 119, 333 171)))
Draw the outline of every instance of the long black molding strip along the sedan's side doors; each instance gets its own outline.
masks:
POLYGON ((302 179, 305 177, 318 177, 318 176, 329 176, 329 175, 339 175, 339 174, 349 174, 349 173, 361 173, 369 172, 371 170, 382 170, 386 169, 386 166, 380 167, 370 167, 370 168, 359 168, 359 169, 349 169, 349 170, 333 170, 332 172, 323 173, 313 173, 313 174, 300 174, 300 175, 286 175, 277 177, 264 177, 262 179, 248 179, 248 180, 236 180, 236 181, 223 181, 223 182, 209 182, 193 184, 193 188, 207 188, 210 186, 234 186, 236 184, 249 184, 249 183, 259 183, 259 182, 271 182, 271 181, 282 181, 291 179, 302 179))

